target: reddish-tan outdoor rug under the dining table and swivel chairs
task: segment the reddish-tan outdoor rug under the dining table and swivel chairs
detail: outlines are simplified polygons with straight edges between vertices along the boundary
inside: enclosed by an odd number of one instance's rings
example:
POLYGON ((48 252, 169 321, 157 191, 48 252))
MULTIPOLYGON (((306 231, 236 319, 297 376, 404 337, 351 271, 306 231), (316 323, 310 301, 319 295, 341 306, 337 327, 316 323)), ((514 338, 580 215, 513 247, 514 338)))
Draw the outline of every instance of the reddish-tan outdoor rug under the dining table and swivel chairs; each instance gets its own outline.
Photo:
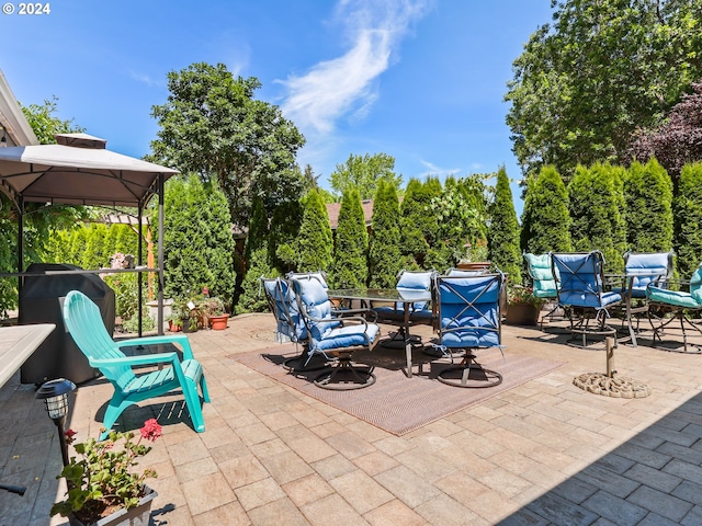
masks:
POLYGON ((503 380, 496 387, 465 389, 437 380, 437 375, 445 365, 435 361, 430 363, 432 358, 421 350, 415 350, 414 364, 426 362, 423 375, 417 375, 415 366, 412 377, 407 378, 405 351, 378 345, 373 352, 353 355, 354 364, 374 367, 377 381, 364 389, 332 391, 313 384, 320 370, 295 375, 282 367, 285 358, 296 354, 295 346, 286 344, 228 357, 395 435, 409 433, 564 365, 507 353, 502 361, 498 350, 478 351, 479 364, 499 371, 503 380))

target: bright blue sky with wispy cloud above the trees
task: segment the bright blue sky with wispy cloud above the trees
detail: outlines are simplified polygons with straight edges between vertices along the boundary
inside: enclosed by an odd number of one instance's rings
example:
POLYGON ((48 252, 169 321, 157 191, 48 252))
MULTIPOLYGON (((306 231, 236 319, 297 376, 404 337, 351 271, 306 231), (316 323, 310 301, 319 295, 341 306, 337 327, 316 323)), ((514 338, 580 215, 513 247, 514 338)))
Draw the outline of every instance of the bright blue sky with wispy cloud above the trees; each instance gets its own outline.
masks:
POLYGON ((502 164, 519 179, 502 99, 552 13, 551 0, 56 0, 42 15, 10 3, 0 69, 23 104, 55 95, 59 117, 141 157, 167 73, 223 62, 293 119, 298 162, 325 187, 350 153, 393 156, 405 183, 502 164))

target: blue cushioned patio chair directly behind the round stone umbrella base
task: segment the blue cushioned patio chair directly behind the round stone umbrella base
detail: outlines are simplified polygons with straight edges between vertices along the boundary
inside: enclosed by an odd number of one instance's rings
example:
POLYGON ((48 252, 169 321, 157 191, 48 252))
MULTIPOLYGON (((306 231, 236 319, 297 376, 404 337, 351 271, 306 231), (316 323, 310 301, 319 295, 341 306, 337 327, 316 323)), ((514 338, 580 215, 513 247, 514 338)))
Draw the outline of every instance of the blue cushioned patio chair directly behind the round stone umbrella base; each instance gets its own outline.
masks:
POLYGON ((586 348, 587 336, 613 336, 616 345, 616 329, 607 323, 609 310, 622 301, 619 293, 604 290, 604 258, 599 250, 587 253, 552 254, 553 275, 556 278, 558 304, 568 308, 570 316, 569 345, 586 348), (574 317, 578 317, 574 321, 574 317), (590 325, 590 321, 595 321, 590 325), (575 336, 582 344, 575 343, 575 336))

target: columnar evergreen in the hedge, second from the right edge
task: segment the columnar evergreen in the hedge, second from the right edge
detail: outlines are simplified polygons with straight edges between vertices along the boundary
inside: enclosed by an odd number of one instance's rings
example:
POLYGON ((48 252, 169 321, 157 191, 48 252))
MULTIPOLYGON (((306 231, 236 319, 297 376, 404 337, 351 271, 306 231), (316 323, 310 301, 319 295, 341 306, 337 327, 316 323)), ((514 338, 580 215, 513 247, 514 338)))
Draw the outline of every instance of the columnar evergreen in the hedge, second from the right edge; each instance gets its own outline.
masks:
POLYGON ((634 252, 672 249, 672 183, 655 159, 633 162, 624 179, 626 242, 634 252))

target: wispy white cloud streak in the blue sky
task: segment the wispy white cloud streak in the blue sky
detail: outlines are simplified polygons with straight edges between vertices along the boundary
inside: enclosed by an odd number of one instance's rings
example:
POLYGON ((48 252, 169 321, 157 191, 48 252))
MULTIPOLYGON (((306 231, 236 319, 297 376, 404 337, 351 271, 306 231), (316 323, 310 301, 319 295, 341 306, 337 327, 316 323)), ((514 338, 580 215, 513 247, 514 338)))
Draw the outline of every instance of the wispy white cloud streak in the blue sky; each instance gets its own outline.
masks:
POLYGON ((285 115, 320 134, 343 116, 363 118, 377 99, 377 78, 397 59, 401 38, 426 7, 427 0, 341 0, 335 22, 348 35, 349 50, 281 81, 285 115))

